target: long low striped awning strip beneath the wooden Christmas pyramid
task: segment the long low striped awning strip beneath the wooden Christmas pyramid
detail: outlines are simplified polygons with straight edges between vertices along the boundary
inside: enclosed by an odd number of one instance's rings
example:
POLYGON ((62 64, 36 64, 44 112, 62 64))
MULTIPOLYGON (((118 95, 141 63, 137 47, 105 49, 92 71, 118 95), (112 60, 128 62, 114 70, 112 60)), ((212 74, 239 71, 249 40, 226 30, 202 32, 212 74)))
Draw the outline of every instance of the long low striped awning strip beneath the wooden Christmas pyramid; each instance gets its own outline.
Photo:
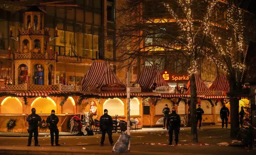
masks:
POLYGON ((9 93, 17 96, 48 96, 49 94, 68 93, 64 91, 0 91, 0 93, 9 93))

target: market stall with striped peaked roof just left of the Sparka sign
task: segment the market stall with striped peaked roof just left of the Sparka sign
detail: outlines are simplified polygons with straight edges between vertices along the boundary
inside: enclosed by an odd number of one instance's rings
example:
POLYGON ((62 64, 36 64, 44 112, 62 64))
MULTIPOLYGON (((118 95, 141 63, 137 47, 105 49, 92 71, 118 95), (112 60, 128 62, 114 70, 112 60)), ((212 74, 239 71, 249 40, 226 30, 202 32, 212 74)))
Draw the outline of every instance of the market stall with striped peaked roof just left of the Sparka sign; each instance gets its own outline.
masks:
MULTIPOLYGON (((136 81, 143 92, 161 93, 161 97, 147 97, 142 98, 143 104, 143 126, 162 126, 163 125, 163 113, 162 110, 165 108, 165 104, 169 108, 175 106, 179 96, 175 95, 174 89, 169 87, 167 82, 163 79, 157 66, 144 66, 136 81), (168 96, 170 95, 170 96, 168 96), (168 98, 167 98, 168 96, 168 98)), ((186 97, 186 96, 184 96, 186 97)), ((186 123, 184 116, 186 117, 186 99, 179 100, 180 106, 175 106, 177 112, 182 117, 182 123, 186 123), (185 101, 184 101, 185 100, 185 101)))

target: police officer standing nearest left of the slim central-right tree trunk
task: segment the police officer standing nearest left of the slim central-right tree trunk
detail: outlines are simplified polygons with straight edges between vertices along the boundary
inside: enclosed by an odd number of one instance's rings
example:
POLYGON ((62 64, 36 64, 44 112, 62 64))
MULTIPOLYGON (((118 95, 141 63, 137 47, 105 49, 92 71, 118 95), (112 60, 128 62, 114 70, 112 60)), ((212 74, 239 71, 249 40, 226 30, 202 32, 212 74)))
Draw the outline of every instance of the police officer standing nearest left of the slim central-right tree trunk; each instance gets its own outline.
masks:
POLYGON ((169 145, 173 142, 173 130, 175 134, 175 145, 178 144, 178 134, 180 132, 180 116, 176 113, 175 108, 172 108, 172 113, 167 118, 167 130, 169 130, 169 145))

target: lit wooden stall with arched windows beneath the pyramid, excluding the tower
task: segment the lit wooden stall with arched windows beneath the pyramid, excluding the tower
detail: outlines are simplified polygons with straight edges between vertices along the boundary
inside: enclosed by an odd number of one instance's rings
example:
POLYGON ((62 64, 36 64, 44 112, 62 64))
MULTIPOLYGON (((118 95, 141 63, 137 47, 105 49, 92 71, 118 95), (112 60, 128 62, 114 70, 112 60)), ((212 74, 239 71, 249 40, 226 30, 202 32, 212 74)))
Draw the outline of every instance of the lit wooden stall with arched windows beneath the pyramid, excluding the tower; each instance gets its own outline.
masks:
MULTIPOLYGON (((27 84, 28 83, 25 83, 23 85, 27 84)), ((61 87, 61 84, 57 85, 56 87, 58 88, 58 86, 61 87)), ((70 118, 77 115, 80 110, 80 105, 78 104, 78 94, 84 96, 93 95, 86 95, 78 91, 15 90, 15 87, 16 85, 6 85, 1 87, 1 89, 13 89, 12 91, 0 91, 1 132, 27 132, 28 124, 26 122, 26 117, 31 113, 31 108, 36 109, 36 113, 41 116, 42 120, 46 120, 50 115, 51 110, 55 110, 56 115, 60 120, 58 123, 59 130, 68 131, 70 118), (16 126, 14 129, 6 130, 6 124, 10 119, 16 120, 16 126)), ((21 86, 19 85, 17 87, 21 86)), ((42 87, 45 86, 38 87, 38 90, 42 90, 42 87)), ((65 86, 62 85, 62 88, 63 87, 65 86)), ((72 85, 72 87, 75 87, 75 85, 72 85)), ((47 90, 46 87, 45 90, 47 90)), ((96 94, 94 95, 97 96, 96 94)), ((48 129, 43 130, 39 128, 39 132, 48 132, 48 129)))

